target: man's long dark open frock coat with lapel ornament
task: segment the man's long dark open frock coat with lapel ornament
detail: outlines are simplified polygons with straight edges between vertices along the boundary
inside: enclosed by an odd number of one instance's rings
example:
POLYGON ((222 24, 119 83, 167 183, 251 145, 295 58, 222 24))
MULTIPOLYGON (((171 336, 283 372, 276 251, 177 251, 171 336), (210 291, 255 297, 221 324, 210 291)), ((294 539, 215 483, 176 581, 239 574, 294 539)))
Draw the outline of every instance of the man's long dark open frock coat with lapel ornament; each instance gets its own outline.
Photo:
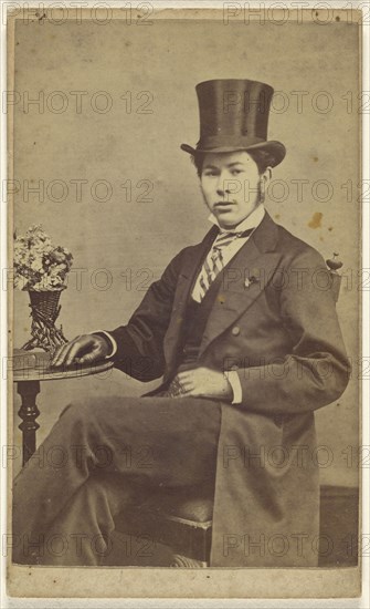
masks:
MULTIPOLYGON (((128 324, 110 331, 116 367, 163 376, 158 391, 176 373, 184 308, 215 234, 180 251, 128 324)), ((330 287, 321 256, 268 214, 223 271, 198 365, 236 370, 243 401, 222 403, 212 566, 317 562, 314 411, 349 378, 330 287)))

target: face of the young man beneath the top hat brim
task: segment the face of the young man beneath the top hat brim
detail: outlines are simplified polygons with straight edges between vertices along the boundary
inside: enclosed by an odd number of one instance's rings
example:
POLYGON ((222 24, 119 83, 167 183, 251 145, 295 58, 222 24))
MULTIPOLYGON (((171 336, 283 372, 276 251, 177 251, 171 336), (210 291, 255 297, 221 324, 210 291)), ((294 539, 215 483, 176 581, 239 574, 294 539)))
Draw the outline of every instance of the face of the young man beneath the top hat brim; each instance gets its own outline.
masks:
POLYGON ((204 156, 201 188, 222 228, 233 228, 257 207, 261 177, 256 163, 245 151, 204 156))

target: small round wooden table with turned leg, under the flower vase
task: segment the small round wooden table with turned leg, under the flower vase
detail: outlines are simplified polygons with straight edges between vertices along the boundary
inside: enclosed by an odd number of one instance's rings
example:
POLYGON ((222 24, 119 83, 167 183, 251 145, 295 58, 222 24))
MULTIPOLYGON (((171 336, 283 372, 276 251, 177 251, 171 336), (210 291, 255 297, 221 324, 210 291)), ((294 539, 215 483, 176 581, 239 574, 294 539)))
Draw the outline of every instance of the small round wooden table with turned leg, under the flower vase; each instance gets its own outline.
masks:
POLYGON ((60 381, 98 374, 113 368, 112 360, 104 360, 93 364, 73 364, 68 368, 50 368, 49 353, 36 351, 14 350, 13 353, 13 382, 21 396, 22 404, 18 414, 22 420, 19 429, 22 432, 22 464, 33 455, 36 450, 36 431, 40 429, 36 419, 40 411, 36 405, 36 395, 40 393, 41 381, 60 381))

